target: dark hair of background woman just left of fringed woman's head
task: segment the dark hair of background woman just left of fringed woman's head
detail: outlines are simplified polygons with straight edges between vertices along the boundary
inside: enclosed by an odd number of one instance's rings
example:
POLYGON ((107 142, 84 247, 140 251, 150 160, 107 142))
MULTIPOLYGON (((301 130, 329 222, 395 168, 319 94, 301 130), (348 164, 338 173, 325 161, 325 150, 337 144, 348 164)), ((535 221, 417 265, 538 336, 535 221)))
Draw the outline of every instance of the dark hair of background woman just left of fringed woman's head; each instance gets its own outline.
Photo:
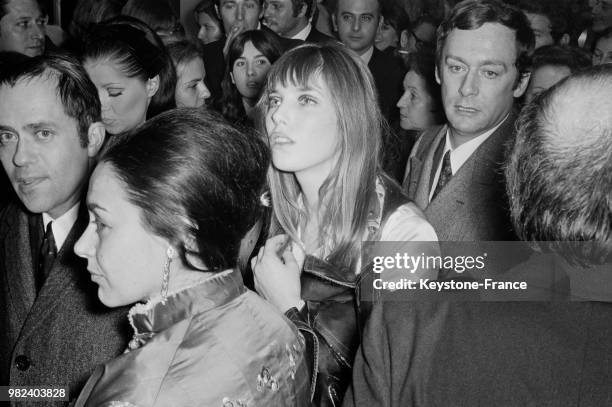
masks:
POLYGON ((221 82, 222 96, 215 103, 217 110, 232 123, 243 122, 246 117, 244 105, 242 104, 242 96, 238 92, 236 85, 232 83, 230 73, 234 67, 234 62, 240 58, 244 52, 245 44, 249 41, 268 58, 271 64, 280 58, 283 53, 281 44, 276 37, 262 30, 245 31, 232 41, 227 53, 225 75, 221 82))

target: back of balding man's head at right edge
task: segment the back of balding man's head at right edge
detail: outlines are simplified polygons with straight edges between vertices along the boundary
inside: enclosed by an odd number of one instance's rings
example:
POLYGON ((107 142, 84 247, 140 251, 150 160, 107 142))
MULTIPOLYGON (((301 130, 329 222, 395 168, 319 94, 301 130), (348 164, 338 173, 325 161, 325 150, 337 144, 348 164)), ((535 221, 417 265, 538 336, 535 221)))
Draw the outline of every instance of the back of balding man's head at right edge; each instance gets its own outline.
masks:
MULTIPOLYGON (((506 169, 512 218, 528 241, 593 241, 570 261, 612 256, 612 65, 580 72, 528 104, 506 169)), ((557 249, 561 245, 555 245, 557 249)))

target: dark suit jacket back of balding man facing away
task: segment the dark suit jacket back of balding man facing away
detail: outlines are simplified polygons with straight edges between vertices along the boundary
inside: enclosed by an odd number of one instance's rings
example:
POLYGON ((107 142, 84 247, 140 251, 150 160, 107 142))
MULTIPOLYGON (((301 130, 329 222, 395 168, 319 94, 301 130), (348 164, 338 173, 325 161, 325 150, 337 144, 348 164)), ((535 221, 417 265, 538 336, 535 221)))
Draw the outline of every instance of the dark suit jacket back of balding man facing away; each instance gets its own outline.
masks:
POLYGON ((610 303, 393 296, 366 325, 344 407, 612 405, 610 303))

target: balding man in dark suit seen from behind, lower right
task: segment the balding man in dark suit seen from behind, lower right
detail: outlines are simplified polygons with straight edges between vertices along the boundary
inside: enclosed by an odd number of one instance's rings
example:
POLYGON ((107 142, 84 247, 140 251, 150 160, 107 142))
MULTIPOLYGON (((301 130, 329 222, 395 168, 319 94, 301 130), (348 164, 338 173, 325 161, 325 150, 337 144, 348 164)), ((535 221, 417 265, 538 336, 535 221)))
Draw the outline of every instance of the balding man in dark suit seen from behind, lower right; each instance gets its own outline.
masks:
POLYGON ((395 293, 371 315, 345 407, 612 405, 610 89, 600 66, 531 102, 506 170, 516 230, 573 264, 570 296, 588 301, 395 293))

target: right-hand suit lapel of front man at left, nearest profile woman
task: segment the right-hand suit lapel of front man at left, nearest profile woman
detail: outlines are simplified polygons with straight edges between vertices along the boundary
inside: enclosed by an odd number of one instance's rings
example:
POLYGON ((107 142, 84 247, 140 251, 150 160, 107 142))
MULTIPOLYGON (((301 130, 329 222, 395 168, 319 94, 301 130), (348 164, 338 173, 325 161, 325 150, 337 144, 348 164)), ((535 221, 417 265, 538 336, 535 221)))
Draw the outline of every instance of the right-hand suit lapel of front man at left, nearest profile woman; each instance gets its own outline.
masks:
POLYGON ((36 330, 38 324, 44 323, 46 316, 62 301, 64 295, 73 289, 79 277, 76 273, 85 273, 85 263, 83 259, 77 257, 73 249, 86 225, 87 211, 81 207, 79 216, 57 254, 49 276, 25 321, 22 337, 29 336, 36 330))

